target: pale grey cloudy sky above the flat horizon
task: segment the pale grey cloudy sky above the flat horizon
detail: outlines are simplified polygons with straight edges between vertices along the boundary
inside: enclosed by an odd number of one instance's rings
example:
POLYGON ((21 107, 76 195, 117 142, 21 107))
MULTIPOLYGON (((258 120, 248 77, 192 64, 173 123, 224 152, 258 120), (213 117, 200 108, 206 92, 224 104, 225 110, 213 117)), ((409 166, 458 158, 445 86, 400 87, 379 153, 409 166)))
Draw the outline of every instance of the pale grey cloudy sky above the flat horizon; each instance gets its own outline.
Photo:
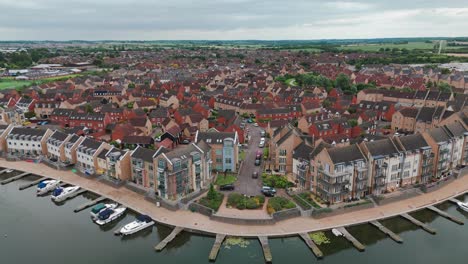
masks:
POLYGON ((0 0, 0 40, 468 36, 467 0, 0 0))

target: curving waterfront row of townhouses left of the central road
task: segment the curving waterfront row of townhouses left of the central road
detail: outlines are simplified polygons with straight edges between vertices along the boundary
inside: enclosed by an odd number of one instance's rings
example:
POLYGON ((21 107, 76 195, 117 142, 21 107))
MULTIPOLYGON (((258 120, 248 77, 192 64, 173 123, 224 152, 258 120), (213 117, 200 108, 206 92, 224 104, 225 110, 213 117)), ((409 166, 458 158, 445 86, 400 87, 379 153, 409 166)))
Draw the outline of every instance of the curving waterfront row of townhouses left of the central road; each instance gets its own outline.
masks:
POLYGON ((232 153, 227 152, 234 146, 237 151, 237 136, 225 136, 225 142, 219 142, 221 146, 213 151, 203 139, 172 150, 138 147, 132 151, 61 131, 0 125, 0 151, 9 158, 41 158, 60 166, 74 166, 83 174, 104 175, 109 181, 133 182, 163 199, 179 200, 208 188, 213 165, 235 170, 232 153), (221 156, 229 156, 222 158, 220 165, 212 161, 212 157, 218 158, 219 149, 224 152, 221 156), (232 164, 227 162, 231 158, 232 164))

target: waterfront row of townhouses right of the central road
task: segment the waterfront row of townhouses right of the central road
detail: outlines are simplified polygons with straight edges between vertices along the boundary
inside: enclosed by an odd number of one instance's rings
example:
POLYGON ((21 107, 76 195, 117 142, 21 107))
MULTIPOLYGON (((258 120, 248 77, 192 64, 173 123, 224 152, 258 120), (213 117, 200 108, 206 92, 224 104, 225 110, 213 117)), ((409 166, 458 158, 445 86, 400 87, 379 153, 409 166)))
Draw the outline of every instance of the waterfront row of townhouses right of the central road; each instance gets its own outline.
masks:
POLYGON ((345 147, 320 145, 310 153, 310 163, 297 163, 295 175, 300 187, 330 203, 381 195, 451 176, 452 169, 468 164, 467 143, 468 131, 457 122, 345 147), (305 166, 310 172, 304 177, 305 166))

